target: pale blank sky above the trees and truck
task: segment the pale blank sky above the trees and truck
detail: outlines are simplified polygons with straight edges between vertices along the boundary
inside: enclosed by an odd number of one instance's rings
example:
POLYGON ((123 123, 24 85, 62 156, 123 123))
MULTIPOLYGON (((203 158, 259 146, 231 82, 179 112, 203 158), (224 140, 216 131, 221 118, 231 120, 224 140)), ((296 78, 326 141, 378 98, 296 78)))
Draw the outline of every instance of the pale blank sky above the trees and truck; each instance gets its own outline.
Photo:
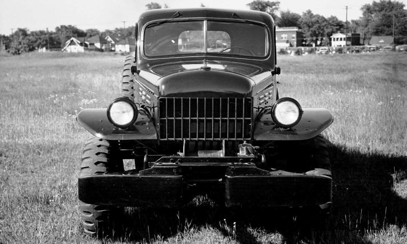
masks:
MULTIPOLYGON (((194 8, 202 3, 206 7, 226 9, 248 9, 246 4, 253 0, 0 0, 0 34, 10 35, 11 29, 28 28, 30 31, 65 24, 80 29, 97 28, 101 31, 134 25, 146 4, 156 2, 170 8, 194 8), (123 21, 126 21, 123 23, 123 21)), ((377 0, 379 1, 379 0, 377 0)), ((310 9, 314 14, 325 17, 337 16, 345 20, 348 6, 348 20, 358 19, 360 8, 372 0, 280 0, 280 10, 302 14, 310 9)), ((407 5, 407 0, 399 0, 407 5)))

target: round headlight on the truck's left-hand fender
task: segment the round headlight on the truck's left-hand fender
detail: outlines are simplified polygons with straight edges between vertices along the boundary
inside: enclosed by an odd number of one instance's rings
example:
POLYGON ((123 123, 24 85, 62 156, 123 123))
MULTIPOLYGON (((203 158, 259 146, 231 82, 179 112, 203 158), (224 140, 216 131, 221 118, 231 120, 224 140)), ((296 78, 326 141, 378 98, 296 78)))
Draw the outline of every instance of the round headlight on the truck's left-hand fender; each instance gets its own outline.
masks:
POLYGON ((137 115, 136 105, 128 98, 114 99, 107 108, 107 118, 111 124, 119 128, 127 128, 133 125, 137 115))

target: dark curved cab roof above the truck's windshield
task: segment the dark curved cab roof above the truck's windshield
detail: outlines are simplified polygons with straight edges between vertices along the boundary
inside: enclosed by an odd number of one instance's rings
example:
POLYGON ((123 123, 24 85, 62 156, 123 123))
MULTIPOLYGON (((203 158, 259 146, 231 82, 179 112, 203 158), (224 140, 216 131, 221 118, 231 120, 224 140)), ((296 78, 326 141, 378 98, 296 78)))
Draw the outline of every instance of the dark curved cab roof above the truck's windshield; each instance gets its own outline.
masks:
POLYGON ((138 25, 162 19, 182 18, 225 18, 236 20, 250 20, 265 23, 270 27, 274 25, 273 18, 264 12, 254 10, 226 10, 213 8, 192 8, 192 9, 154 9, 142 13, 138 19, 138 25), (177 14, 178 13, 178 14, 177 14))

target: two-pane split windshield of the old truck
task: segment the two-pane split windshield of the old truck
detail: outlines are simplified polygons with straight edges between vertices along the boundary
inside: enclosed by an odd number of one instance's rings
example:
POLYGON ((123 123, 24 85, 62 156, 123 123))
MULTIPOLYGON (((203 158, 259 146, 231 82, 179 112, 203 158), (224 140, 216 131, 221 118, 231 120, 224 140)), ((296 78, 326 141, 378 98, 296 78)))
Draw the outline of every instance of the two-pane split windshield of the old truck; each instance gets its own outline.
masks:
POLYGON ((266 57, 266 27, 242 22, 179 21, 147 26, 144 54, 149 57, 210 53, 266 57))

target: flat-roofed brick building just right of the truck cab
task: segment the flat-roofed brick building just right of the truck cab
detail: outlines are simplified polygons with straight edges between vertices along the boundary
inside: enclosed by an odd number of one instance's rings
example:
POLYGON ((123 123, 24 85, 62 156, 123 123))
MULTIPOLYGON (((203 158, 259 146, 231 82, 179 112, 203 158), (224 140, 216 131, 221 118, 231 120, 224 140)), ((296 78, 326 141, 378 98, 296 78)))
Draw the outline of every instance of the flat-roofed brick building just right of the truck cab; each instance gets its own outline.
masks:
POLYGON ((303 33, 298 27, 276 27, 276 47, 300 47, 304 40, 303 33))

